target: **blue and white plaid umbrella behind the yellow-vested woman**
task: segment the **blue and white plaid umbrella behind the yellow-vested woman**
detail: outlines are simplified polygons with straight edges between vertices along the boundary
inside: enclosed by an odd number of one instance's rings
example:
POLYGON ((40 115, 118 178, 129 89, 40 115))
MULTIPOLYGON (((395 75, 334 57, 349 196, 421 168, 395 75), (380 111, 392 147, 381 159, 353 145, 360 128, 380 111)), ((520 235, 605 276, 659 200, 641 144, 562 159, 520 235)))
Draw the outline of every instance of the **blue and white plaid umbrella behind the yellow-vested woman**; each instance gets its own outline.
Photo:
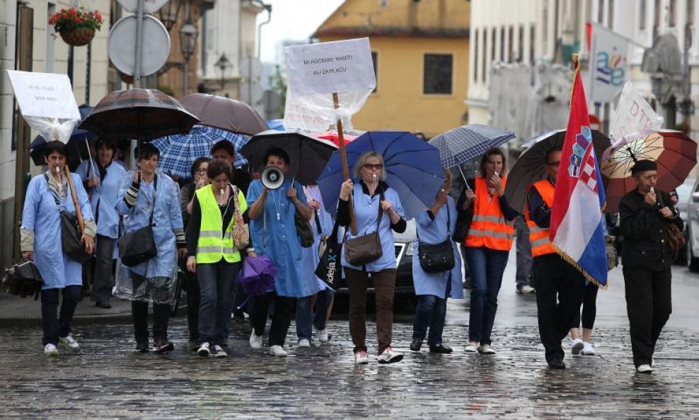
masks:
POLYGON ((151 144, 160 150, 158 169, 161 172, 188 179, 192 176, 194 161, 199 157, 209 156, 212 145, 221 139, 233 143, 236 149, 236 167, 248 164, 248 159, 238 152, 248 142, 248 137, 219 128, 195 125, 188 134, 161 137, 153 140, 151 144))

